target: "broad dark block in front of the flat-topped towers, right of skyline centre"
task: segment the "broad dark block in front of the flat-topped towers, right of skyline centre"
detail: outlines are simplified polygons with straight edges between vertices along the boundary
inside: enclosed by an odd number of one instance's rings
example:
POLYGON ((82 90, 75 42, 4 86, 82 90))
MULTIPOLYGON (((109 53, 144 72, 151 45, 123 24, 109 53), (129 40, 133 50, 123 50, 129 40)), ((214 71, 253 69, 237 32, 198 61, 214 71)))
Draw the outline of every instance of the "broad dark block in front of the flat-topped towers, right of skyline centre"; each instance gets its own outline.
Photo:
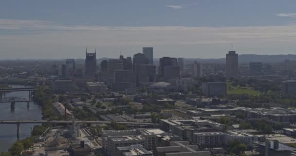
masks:
POLYGON ((155 82, 156 80, 156 66, 152 64, 141 64, 140 74, 138 76, 139 82, 155 82))

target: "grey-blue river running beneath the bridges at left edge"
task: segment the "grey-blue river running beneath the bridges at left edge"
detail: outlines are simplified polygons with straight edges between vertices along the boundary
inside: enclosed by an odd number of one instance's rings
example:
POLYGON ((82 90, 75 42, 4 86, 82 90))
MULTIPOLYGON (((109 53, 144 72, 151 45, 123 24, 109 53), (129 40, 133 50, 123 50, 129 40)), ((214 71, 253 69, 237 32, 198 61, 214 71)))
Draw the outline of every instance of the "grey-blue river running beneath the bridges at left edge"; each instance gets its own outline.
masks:
MULTIPOLYGON (((28 87, 23 85, 11 85, 13 88, 28 87)), ((4 97, 4 96, 2 96, 4 97)), ((6 98, 29 98, 29 92, 11 92, 6 93, 6 98)), ((29 108, 27 102, 16 102, 15 110, 10 110, 10 103, 0 103, 0 120, 22 120, 22 119, 41 119, 42 108, 35 102, 30 102, 29 108)), ((20 139, 31 136, 31 127, 36 124, 20 124, 20 139)), ((0 124, 0 152, 8 151, 8 148, 17 141, 16 124, 0 124)))

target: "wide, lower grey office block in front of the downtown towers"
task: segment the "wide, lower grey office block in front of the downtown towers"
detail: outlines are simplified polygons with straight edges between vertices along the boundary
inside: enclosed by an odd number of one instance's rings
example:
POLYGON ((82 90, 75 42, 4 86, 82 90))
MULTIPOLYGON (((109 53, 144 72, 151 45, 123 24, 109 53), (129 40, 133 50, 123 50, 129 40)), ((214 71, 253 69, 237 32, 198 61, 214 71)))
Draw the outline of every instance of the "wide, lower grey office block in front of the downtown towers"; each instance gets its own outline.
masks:
POLYGON ((135 74, 130 70, 115 70, 113 90, 121 91, 129 87, 135 87, 135 74))

